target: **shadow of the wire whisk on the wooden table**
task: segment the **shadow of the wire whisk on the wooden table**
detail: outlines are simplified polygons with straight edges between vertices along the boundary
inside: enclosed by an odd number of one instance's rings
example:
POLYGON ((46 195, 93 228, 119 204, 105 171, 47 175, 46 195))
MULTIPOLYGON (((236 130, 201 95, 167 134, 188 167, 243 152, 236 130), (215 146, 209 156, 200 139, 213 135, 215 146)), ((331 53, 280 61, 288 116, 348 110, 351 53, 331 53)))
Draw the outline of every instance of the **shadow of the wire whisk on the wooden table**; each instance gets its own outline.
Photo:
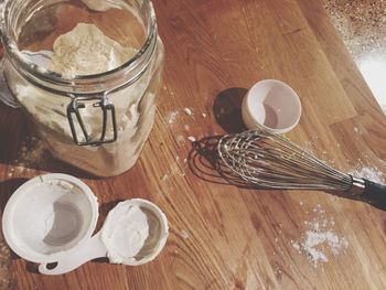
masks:
MULTIPOLYGON (((240 189, 264 191, 274 190, 265 186, 253 185, 251 183, 242 179, 237 173, 233 172, 222 161, 218 154, 217 146, 222 136, 206 137, 193 142, 193 148, 189 154, 189 168, 195 176, 211 183, 235 185, 240 189)), ((347 200, 368 203, 376 208, 386 211, 386 193, 382 202, 378 203, 375 201, 358 198, 357 196, 351 195, 347 192, 325 191, 325 193, 347 200)))

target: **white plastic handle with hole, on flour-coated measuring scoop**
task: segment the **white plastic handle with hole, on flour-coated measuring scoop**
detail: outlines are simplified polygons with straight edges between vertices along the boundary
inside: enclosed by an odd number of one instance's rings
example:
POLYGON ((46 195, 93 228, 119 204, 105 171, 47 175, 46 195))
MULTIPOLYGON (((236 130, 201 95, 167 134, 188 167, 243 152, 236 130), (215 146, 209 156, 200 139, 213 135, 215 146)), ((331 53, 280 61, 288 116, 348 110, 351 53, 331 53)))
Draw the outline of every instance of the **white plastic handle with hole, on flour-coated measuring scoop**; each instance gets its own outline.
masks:
POLYGON ((75 270, 89 260, 106 257, 106 246, 100 240, 100 234, 97 233, 85 244, 66 253, 66 255, 57 261, 56 267, 49 269, 49 264, 41 264, 39 266, 39 271, 44 275, 62 275, 75 270))

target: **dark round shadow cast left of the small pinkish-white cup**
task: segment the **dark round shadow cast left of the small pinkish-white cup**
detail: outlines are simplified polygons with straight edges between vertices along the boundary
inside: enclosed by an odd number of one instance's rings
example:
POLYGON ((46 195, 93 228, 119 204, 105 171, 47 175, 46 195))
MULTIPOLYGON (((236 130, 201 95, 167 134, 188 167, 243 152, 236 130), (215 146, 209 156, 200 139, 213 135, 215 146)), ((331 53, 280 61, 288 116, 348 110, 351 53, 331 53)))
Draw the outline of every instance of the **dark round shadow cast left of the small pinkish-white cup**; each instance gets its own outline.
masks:
POLYGON ((228 133, 243 132, 242 104, 248 89, 232 87, 219 93, 213 104, 213 112, 218 125, 228 133))

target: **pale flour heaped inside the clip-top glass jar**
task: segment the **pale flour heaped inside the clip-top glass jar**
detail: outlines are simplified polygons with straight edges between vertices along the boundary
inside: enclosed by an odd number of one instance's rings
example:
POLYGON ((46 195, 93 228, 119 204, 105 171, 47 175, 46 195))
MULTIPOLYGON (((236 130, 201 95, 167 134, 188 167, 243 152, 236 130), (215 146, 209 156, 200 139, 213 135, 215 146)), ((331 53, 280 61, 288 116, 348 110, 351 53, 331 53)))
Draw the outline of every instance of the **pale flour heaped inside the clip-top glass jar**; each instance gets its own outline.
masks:
MULTIPOLYGON (((118 126, 118 140, 112 143, 99 147, 75 146, 66 116, 69 98, 32 86, 22 78, 19 80, 20 77, 12 67, 8 78, 18 82, 8 83, 13 95, 33 118, 54 157, 94 175, 118 175, 133 167, 154 121, 158 85, 153 82, 160 80, 156 69, 163 60, 160 40, 157 45, 156 51, 161 52, 154 53, 156 56, 143 75, 130 86, 108 94, 116 108, 118 126)), ((122 46, 109 39, 95 24, 78 23, 72 31, 56 39, 46 68, 64 78, 94 75, 121 66, 137 52, 133 47, 122 46)), ((97 140, 101 133, 101 110, 89 106, 83 108, 81 114, 90 139, 97 140)), ((83 136, 79 127, 76 127, 76 131, 77 136, 83 136)))

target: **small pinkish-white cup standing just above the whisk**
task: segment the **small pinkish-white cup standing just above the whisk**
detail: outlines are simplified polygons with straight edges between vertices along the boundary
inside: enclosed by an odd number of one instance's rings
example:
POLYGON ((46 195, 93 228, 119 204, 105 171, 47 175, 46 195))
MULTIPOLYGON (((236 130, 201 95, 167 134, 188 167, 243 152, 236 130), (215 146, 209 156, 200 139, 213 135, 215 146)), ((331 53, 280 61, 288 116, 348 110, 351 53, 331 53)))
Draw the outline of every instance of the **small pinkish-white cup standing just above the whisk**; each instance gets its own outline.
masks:
POLYGON ((277 79, 265 79, 249 89, 243 100, 242 114, 244 123, 250 130, 285 133, 298 125, 301 103, 289 85, 277 79))

